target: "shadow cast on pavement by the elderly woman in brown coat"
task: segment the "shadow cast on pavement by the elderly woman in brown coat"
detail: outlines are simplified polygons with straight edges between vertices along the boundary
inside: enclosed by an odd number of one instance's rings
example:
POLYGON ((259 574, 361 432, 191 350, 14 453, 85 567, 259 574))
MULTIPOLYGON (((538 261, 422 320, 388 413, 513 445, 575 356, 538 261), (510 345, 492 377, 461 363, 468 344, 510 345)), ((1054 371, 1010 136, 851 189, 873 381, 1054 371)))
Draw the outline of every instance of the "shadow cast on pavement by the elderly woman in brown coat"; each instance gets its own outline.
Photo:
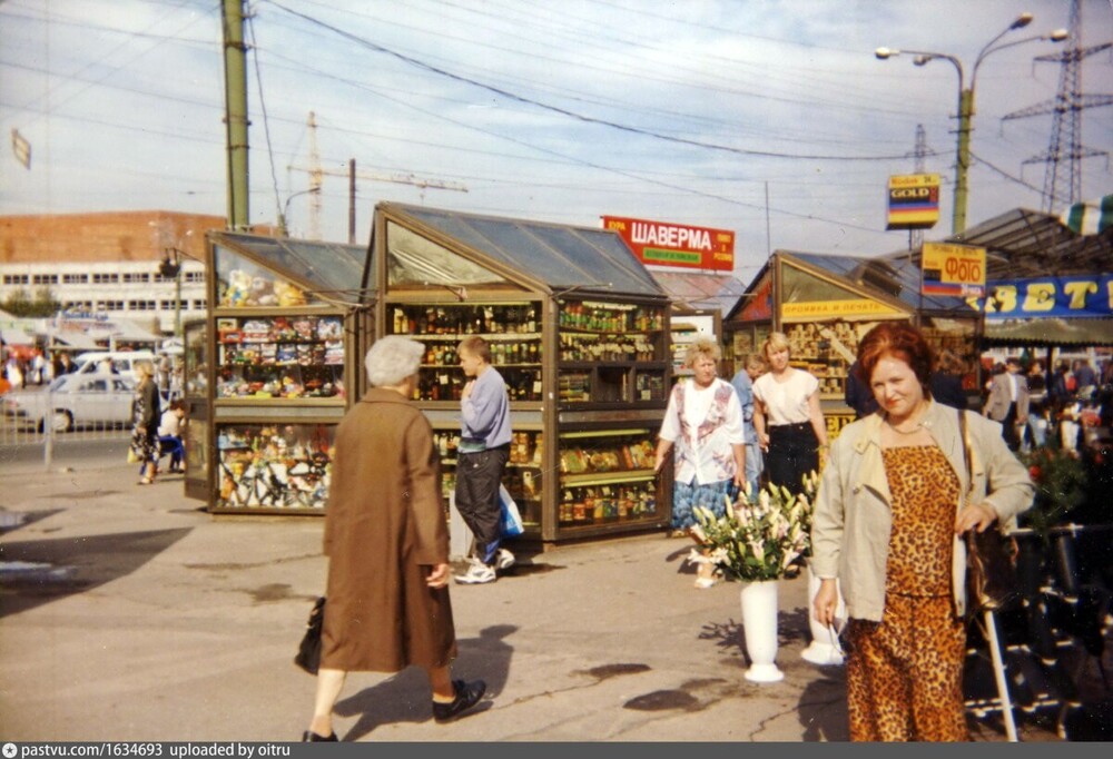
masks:
MULTIPOLYGON (((459 657, 452 667, 453 679, 483 680, 486 693, 475 708, 460 719, 491 709, 491 699, 502 693, 510 672, 514 648, 503 639, 518 632, 512 624, 494 624, 480 631, 479 638, 456 641, 459 657)), ((357 741, 375 728, 394 722, 425 722, 433 719, 432 694, 425 671, 417 667, 405 670, 365 688, 355 696, 341 700, 336 713, 341 717, 358 714, 359 719, 341 740, 357 741)))

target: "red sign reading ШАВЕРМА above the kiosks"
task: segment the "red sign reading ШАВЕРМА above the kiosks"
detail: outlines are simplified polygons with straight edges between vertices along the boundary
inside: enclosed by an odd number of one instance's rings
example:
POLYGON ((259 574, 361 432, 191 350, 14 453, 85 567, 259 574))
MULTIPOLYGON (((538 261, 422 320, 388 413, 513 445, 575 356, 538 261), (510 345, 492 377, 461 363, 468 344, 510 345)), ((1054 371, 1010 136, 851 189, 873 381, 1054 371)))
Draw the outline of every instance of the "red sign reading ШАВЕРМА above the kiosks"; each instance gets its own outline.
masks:
POLYGON ((735 270, 735 233, 668 221, 603 216, 642 264, 689 269, 735 270))

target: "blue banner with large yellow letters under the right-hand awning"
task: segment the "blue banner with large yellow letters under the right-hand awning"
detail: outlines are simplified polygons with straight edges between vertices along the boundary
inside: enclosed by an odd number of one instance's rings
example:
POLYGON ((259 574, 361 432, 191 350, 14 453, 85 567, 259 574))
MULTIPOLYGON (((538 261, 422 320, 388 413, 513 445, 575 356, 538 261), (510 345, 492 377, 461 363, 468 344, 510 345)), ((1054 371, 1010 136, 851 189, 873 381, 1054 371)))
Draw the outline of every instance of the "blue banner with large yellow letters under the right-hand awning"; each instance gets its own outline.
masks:
POLYGON ((1113 316, 1113 274, 996 280, 985 300, 969 303, 984 305, 986 318, 1107 318, 1113 316))

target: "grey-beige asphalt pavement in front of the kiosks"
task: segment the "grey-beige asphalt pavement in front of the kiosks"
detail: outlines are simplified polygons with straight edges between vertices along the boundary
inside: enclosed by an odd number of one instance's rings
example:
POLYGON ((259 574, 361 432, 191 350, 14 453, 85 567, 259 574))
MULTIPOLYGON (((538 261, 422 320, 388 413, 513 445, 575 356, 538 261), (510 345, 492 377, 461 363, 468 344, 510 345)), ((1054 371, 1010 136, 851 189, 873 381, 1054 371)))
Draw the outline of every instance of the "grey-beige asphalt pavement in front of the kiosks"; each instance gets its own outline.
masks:
MULTIPOLYGON (((297 740, 314 678, 293 664, 324 586, 323 520, 215 516, 180 475, 122 456, 0 459, 0 737, 297 740)), ((466 718, 433 721, 424 674, 353 673, 345 741, 845 741, 841 667, 800 658, 806 580, 779 584, 776 683, 745 679, 741 585, 693 588, 663 534, 541 551, 452 588, 466 718)), ((1004 741, 992 717, 979 741, 1004 741)), ((1038 717, 1027 741, 1058 740, 1038 717)))

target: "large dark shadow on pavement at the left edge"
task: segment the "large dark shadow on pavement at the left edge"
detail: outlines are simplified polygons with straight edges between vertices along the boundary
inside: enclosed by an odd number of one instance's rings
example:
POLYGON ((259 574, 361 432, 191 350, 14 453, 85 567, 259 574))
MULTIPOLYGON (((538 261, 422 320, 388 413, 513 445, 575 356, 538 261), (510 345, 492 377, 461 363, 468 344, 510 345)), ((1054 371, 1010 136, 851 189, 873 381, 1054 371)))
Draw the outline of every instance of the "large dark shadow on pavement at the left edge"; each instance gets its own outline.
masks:
POLYGON ((122 578, 189 534, 190 528, 0 545, 0 618, 122 578))

